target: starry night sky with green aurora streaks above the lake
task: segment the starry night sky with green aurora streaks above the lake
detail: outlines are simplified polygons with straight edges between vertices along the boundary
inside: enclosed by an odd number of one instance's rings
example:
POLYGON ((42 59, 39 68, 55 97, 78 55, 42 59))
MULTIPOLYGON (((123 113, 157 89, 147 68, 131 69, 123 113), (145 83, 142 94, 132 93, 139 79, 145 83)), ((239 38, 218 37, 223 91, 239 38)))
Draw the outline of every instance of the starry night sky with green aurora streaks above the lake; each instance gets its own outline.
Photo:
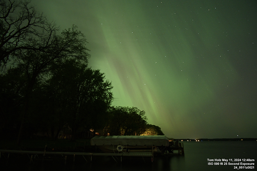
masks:
POLYGON ((257 137, 255 0, 32 0, 85 34, 114 106, 173 138, 257 137))

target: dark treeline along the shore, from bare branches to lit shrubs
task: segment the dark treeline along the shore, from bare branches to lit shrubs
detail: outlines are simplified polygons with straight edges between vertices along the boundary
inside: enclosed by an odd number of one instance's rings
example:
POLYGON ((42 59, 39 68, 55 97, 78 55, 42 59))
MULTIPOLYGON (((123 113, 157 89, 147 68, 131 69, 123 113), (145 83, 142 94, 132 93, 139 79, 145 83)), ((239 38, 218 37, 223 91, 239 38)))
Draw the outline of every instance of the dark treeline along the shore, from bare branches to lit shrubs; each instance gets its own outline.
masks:
POLYGON ((136 107, 112 107, 112 84, 88 67, 87 40, 76 26, 62 30, 29 1, 0 1, 0 136, 57 138, 72 130, 110 135, 162 135, 136 107))

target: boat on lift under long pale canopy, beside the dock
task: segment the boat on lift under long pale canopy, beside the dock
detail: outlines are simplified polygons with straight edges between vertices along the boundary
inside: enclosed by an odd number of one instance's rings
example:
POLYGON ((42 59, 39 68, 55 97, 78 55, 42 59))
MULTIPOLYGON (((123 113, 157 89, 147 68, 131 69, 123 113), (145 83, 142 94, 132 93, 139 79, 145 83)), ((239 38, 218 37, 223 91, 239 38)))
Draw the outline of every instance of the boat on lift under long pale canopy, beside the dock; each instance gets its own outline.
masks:
POLYGON ((91 145, 97 145, 106 153, 156 152, 157 147, 169 147, 169 139, 165 135, 96 136, 91 139, 91 145))

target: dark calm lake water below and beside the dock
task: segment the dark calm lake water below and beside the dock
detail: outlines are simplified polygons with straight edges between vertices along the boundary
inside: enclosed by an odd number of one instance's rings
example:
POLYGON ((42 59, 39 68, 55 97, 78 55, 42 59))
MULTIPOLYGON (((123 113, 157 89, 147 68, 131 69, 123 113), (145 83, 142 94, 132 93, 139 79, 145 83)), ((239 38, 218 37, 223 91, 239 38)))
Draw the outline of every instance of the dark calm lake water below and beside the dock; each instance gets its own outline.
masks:
MULTIPOLYGON (((257 141, 202 141, 202 142, 183 142, 185 155, 181 156, 174 151, 170 156, 155 156, 154 162, 151 162, 150 157, 123 157, 122 163, 116 163, 111 156, 93 156, 93 161, 82 156, 75 157, 73 164, 73 156, 67 157, 67 164, 64 165, 63 160, 55 161, 34 161, 29 164, 29 156, 24 156, 22 160, 17 160, 15 156, 10 159, 0 159, 0 170, 40 170, 40 171, 184 171, 184 170, 235 170, 234 165, 228 163, 238 162, 215 162, 213 165, 208 165, 207 159, 241 159, 242 163, 257 162, 257 141), (251 159, 251 162, 242 161, 243 159, 251 159), (253 161, 254 160, 254 161, 253 161), (214 165, 219 163, 219 165, 214 165), (220 164, 222 163, 222 165, 220 164), (224 165, 227 163, 227 165, 224 165)), ((120 158, 118 158, 120 159, 120 158)), ((211 162, 209 162, 211 163, 211 162)), ((251 165, 254 166, 255 165, 251 165)), ((237 166, 239 169, 239 166, 237 166)), ((245 170, 245 169, 243 169, 245 170)), ((249 170, 249 169, 247 169, 249 170)), ((251 170, 256 170, 251 169, 251 170)))

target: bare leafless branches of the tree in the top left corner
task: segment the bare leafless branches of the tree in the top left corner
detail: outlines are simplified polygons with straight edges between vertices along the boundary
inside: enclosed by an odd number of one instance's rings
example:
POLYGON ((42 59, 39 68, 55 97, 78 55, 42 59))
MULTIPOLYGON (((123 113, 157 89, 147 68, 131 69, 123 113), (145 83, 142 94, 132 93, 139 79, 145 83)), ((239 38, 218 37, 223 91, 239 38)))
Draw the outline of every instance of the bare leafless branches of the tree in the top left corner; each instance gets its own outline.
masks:
POLYGON ((0 1, 0 61, 16 50, 45 50, 58 28, 31 6, 30 1, 0 1), (39 46, 35 41, 40 40, 39 46))

